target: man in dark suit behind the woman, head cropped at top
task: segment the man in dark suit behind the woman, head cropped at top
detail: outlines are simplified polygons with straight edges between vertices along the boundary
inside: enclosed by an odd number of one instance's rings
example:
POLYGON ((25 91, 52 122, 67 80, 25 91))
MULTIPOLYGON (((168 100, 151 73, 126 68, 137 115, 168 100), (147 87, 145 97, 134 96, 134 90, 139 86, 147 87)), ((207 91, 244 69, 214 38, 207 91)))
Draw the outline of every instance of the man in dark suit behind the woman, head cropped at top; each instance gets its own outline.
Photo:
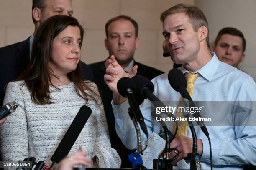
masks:
MULTIPOLYGON (((71 0, 33 0, 32 18, 35 31, 42 22, 53 15, 72 15, 71 0), (60 3, 61 1, 61 3, 60 3)), ((33 35, 34 35, 33 34, 33 35)), ((4 97, 4 87, 15 80, 27 68, 33 43, 33 35, 25 41, 0 48, 0 105, 4 97)), ((92 68, 80 62, 84 79, 93 80, 92 68)))

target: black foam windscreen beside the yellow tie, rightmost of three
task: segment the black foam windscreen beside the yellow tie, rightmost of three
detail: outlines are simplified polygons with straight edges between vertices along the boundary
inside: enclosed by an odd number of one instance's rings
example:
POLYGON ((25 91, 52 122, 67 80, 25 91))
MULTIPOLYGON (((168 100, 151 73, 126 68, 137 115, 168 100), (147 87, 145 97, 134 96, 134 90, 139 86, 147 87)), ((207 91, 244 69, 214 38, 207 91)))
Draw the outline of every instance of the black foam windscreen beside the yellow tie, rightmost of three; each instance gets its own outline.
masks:
POLYGON ((180 86, 187 87, 187 80, 185 75, 177 68, 173 68, 168 73, 168 80, 172 88, 179 92, 180 86))

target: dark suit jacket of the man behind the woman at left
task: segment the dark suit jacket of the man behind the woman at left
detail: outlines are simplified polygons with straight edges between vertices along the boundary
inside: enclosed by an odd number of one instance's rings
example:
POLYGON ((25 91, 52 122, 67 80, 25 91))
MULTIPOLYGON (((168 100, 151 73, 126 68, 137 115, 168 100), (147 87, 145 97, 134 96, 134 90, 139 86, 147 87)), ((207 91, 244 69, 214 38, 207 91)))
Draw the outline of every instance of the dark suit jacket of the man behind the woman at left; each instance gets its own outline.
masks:
MULTIPOLYGON (((4 87, 8 82, 15 80, 27 68, 29 62, 29 37, 25 41, 18 42, 0 48, 0 105, 4 97, 4 87)), ((80 62, 84 79, 93 81, 92 68, 84 62, 80 62)))

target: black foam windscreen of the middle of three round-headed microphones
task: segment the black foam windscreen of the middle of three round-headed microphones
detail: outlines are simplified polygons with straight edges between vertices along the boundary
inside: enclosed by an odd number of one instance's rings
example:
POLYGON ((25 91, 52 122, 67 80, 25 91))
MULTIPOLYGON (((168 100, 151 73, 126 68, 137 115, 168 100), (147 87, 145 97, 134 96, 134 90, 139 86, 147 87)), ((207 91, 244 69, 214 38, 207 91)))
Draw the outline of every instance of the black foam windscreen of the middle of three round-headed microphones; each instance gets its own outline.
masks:
POLYGON ((148 89, 151 92, 154 92, 154 85, 147 77, 144 77, 142 75, 136 75, 131 79, 135 82, 137 93, 140 95, 140 97, 143 97, 144 99, 146 99, 146 96, 143 95, 144 87, 148 87, 148 89))

